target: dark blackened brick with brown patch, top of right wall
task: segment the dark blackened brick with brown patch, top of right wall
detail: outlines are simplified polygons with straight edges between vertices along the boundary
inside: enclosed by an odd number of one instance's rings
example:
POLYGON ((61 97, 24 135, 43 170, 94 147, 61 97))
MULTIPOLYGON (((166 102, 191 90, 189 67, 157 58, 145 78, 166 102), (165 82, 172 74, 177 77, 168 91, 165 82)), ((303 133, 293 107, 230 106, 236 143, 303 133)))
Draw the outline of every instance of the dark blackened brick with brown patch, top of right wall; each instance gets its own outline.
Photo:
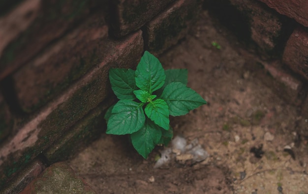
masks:
POLYGON ((209 10, 248 46, 263 57, 277 58, 282 53, 293 23, 256 0, 210 0, 209 10))

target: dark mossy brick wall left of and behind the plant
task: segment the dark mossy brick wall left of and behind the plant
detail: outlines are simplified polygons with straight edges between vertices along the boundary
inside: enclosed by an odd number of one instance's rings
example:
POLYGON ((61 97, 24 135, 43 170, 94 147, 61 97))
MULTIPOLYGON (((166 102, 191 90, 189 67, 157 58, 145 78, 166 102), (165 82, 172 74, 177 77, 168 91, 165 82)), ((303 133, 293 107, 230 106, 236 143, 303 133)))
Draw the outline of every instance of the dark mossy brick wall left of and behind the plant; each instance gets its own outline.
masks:
POLYGON ((157 55, 176 44, 201 6, 201 0, 1 1, 0 191, 20 192, 46 165, 103 133, 104 111, 115 102, 108 70, 134 68, 145 50, 157 55))

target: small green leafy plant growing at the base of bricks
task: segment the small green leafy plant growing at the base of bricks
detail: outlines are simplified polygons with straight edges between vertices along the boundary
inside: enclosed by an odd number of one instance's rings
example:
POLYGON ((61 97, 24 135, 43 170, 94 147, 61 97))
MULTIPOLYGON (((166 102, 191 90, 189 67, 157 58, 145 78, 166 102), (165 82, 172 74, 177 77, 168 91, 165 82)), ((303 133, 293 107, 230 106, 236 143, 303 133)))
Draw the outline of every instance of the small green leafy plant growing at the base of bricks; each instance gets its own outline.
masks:
POLYGON ((107 134, 130 134, 137 152, 147 158, 156 144, 173 137, 169 115, 185 115, 207 102, 187 87, 187 70, 164 70, 159 60, 145 52, 136 68, 110 69, 112 90, 119 101, 106 114, 107 134))

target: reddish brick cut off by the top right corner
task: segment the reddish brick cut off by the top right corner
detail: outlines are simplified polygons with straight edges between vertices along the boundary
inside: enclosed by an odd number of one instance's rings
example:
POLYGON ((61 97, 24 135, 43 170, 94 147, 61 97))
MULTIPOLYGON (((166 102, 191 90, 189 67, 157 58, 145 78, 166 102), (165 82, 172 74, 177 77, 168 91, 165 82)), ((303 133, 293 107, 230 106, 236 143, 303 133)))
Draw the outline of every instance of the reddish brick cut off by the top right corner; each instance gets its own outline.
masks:
POLYGON ((307 0, 260 0, 277 12, 295 19, 298 23, 308 27, 307 0))

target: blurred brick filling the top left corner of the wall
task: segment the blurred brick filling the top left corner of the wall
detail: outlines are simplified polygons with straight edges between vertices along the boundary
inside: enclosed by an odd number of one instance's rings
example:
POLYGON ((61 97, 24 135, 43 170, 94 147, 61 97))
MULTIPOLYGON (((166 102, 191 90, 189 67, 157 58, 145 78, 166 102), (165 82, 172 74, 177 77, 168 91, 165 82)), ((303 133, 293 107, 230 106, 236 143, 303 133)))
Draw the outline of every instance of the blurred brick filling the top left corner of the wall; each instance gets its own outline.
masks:
MULTIPOLYGON (((103 0, 106 2, 106 0, 103 0)), ((0 18, 0 80, 74 28, 98 0, 24 0, 0 18)))

